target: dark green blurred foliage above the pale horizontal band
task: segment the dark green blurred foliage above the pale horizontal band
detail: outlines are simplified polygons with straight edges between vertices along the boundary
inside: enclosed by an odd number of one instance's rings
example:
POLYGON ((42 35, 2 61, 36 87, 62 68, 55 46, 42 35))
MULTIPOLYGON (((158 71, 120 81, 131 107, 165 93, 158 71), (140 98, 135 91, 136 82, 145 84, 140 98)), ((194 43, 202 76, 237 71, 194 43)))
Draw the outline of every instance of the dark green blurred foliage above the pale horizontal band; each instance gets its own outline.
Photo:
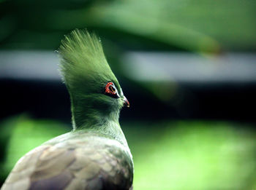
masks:
POLYGON ((254 0, 5 0, 0 43, 53 50, 64 33, 89 28, 132 50, 255 51, 255 9, 254 0))

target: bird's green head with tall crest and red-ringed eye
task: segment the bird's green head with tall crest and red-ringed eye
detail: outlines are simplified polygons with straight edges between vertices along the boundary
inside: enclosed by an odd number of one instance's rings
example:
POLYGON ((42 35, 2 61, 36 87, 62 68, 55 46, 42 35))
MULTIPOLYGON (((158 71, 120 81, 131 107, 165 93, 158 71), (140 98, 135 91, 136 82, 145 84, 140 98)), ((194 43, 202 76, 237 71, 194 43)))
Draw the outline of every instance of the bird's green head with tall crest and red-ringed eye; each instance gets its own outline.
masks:
POLYGON ((95 34, 76 29, 61 41, 61 74, 69 90, 74 127, 118 122, 129 107, 95 34))

